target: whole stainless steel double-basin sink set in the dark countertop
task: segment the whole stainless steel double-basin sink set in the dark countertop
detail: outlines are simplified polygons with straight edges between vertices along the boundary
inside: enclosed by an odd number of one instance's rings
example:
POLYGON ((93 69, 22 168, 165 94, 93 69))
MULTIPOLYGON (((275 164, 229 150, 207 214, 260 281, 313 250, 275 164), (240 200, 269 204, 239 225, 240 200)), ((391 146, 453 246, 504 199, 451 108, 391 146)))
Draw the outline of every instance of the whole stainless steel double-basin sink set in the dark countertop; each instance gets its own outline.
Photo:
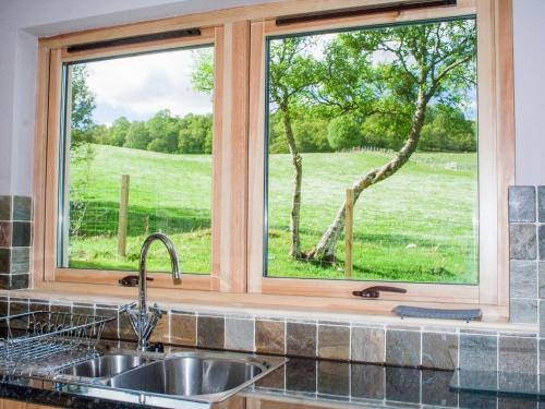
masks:
POLYGON ((61 378, 117 390, 217 402, 286 362, 235 352, 187 351, 166 357, 108 353, 60 371, 61 378), (82 382, 83 381, 83 382, 82 382))

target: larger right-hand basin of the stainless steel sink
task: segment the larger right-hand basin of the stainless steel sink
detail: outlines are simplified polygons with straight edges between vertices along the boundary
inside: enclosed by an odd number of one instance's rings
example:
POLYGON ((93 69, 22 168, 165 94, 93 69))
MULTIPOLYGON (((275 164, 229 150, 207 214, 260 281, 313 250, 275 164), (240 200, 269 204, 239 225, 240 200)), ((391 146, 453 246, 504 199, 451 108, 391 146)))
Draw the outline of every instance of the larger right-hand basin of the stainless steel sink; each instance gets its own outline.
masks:
POLYGON ((251 359, 186 352, 113 376, 108 385, 119 389, 219 401, 267 370, 265 363, 251 359))

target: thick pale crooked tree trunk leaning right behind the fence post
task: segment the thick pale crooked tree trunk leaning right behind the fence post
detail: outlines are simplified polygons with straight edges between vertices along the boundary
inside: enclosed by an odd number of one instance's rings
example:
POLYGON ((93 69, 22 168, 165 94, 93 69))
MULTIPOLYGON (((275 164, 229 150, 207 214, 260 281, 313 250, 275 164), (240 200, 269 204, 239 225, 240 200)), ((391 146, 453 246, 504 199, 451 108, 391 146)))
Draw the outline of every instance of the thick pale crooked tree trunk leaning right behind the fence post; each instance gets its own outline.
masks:
MULTIPOLYGON (((409 136, 397 155, 384 166, 371 170, 352 184, 352 189, 354 190, 354 204, 365 189, 396 173, 414 153, 419 144, 422 127, 424 125, 427 100, 428 98, 425 96, 424 92, 420 91, 416 111, 412 119, 409 136)), ((307 253, 308 260, 335 262, 337 241, 344 228, 346 210, 347 202, 344 201, 337 210, 334 221, 324 232, 316 246, 307 253)))

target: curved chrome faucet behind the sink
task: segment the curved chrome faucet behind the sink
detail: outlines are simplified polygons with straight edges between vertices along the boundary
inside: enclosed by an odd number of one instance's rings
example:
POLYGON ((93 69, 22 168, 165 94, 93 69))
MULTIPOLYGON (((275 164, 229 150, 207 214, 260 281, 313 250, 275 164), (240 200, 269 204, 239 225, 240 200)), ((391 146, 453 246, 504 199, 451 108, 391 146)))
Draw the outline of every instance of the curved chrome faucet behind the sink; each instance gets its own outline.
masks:
POLYGON ((159 240, 167 248, 170 262, 172 265, 172 279, 174 281, 179 281, 182 279, 182 273, 180 272, 180 266, 178 263, 178 254, 174 250, 174 244, 172 241, 164 233, 153 233, 148 236, 146 240, 144 240, 144 244, 142 244, 142 250, 140 253, 140 278, 138 278, 138 311, 134 309, 129 311, 129 317, 131 320, 131 325, 138 336, 138 350, 145 351, 148 346, 148 339, 152 335, 152 332, 155 328, 155 325, 159 321, 162 315, 161 310, 154 304, 152 308, 147 308, 146 301, 146 260, 147 252, 152 243, 156 240, 159 240))

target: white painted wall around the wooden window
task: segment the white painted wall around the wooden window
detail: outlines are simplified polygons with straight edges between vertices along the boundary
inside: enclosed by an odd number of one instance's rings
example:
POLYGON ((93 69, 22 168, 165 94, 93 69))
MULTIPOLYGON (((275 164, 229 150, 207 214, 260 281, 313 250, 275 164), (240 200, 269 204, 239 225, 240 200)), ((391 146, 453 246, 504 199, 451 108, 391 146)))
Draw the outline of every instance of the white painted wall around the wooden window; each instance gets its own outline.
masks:
MULTIPOLYGON (((271 0, 0 0, 0 194, 31 194, 36 38, 271 0)), ((517 183, 545 184, 545 0, 513 0, 517 183)))

